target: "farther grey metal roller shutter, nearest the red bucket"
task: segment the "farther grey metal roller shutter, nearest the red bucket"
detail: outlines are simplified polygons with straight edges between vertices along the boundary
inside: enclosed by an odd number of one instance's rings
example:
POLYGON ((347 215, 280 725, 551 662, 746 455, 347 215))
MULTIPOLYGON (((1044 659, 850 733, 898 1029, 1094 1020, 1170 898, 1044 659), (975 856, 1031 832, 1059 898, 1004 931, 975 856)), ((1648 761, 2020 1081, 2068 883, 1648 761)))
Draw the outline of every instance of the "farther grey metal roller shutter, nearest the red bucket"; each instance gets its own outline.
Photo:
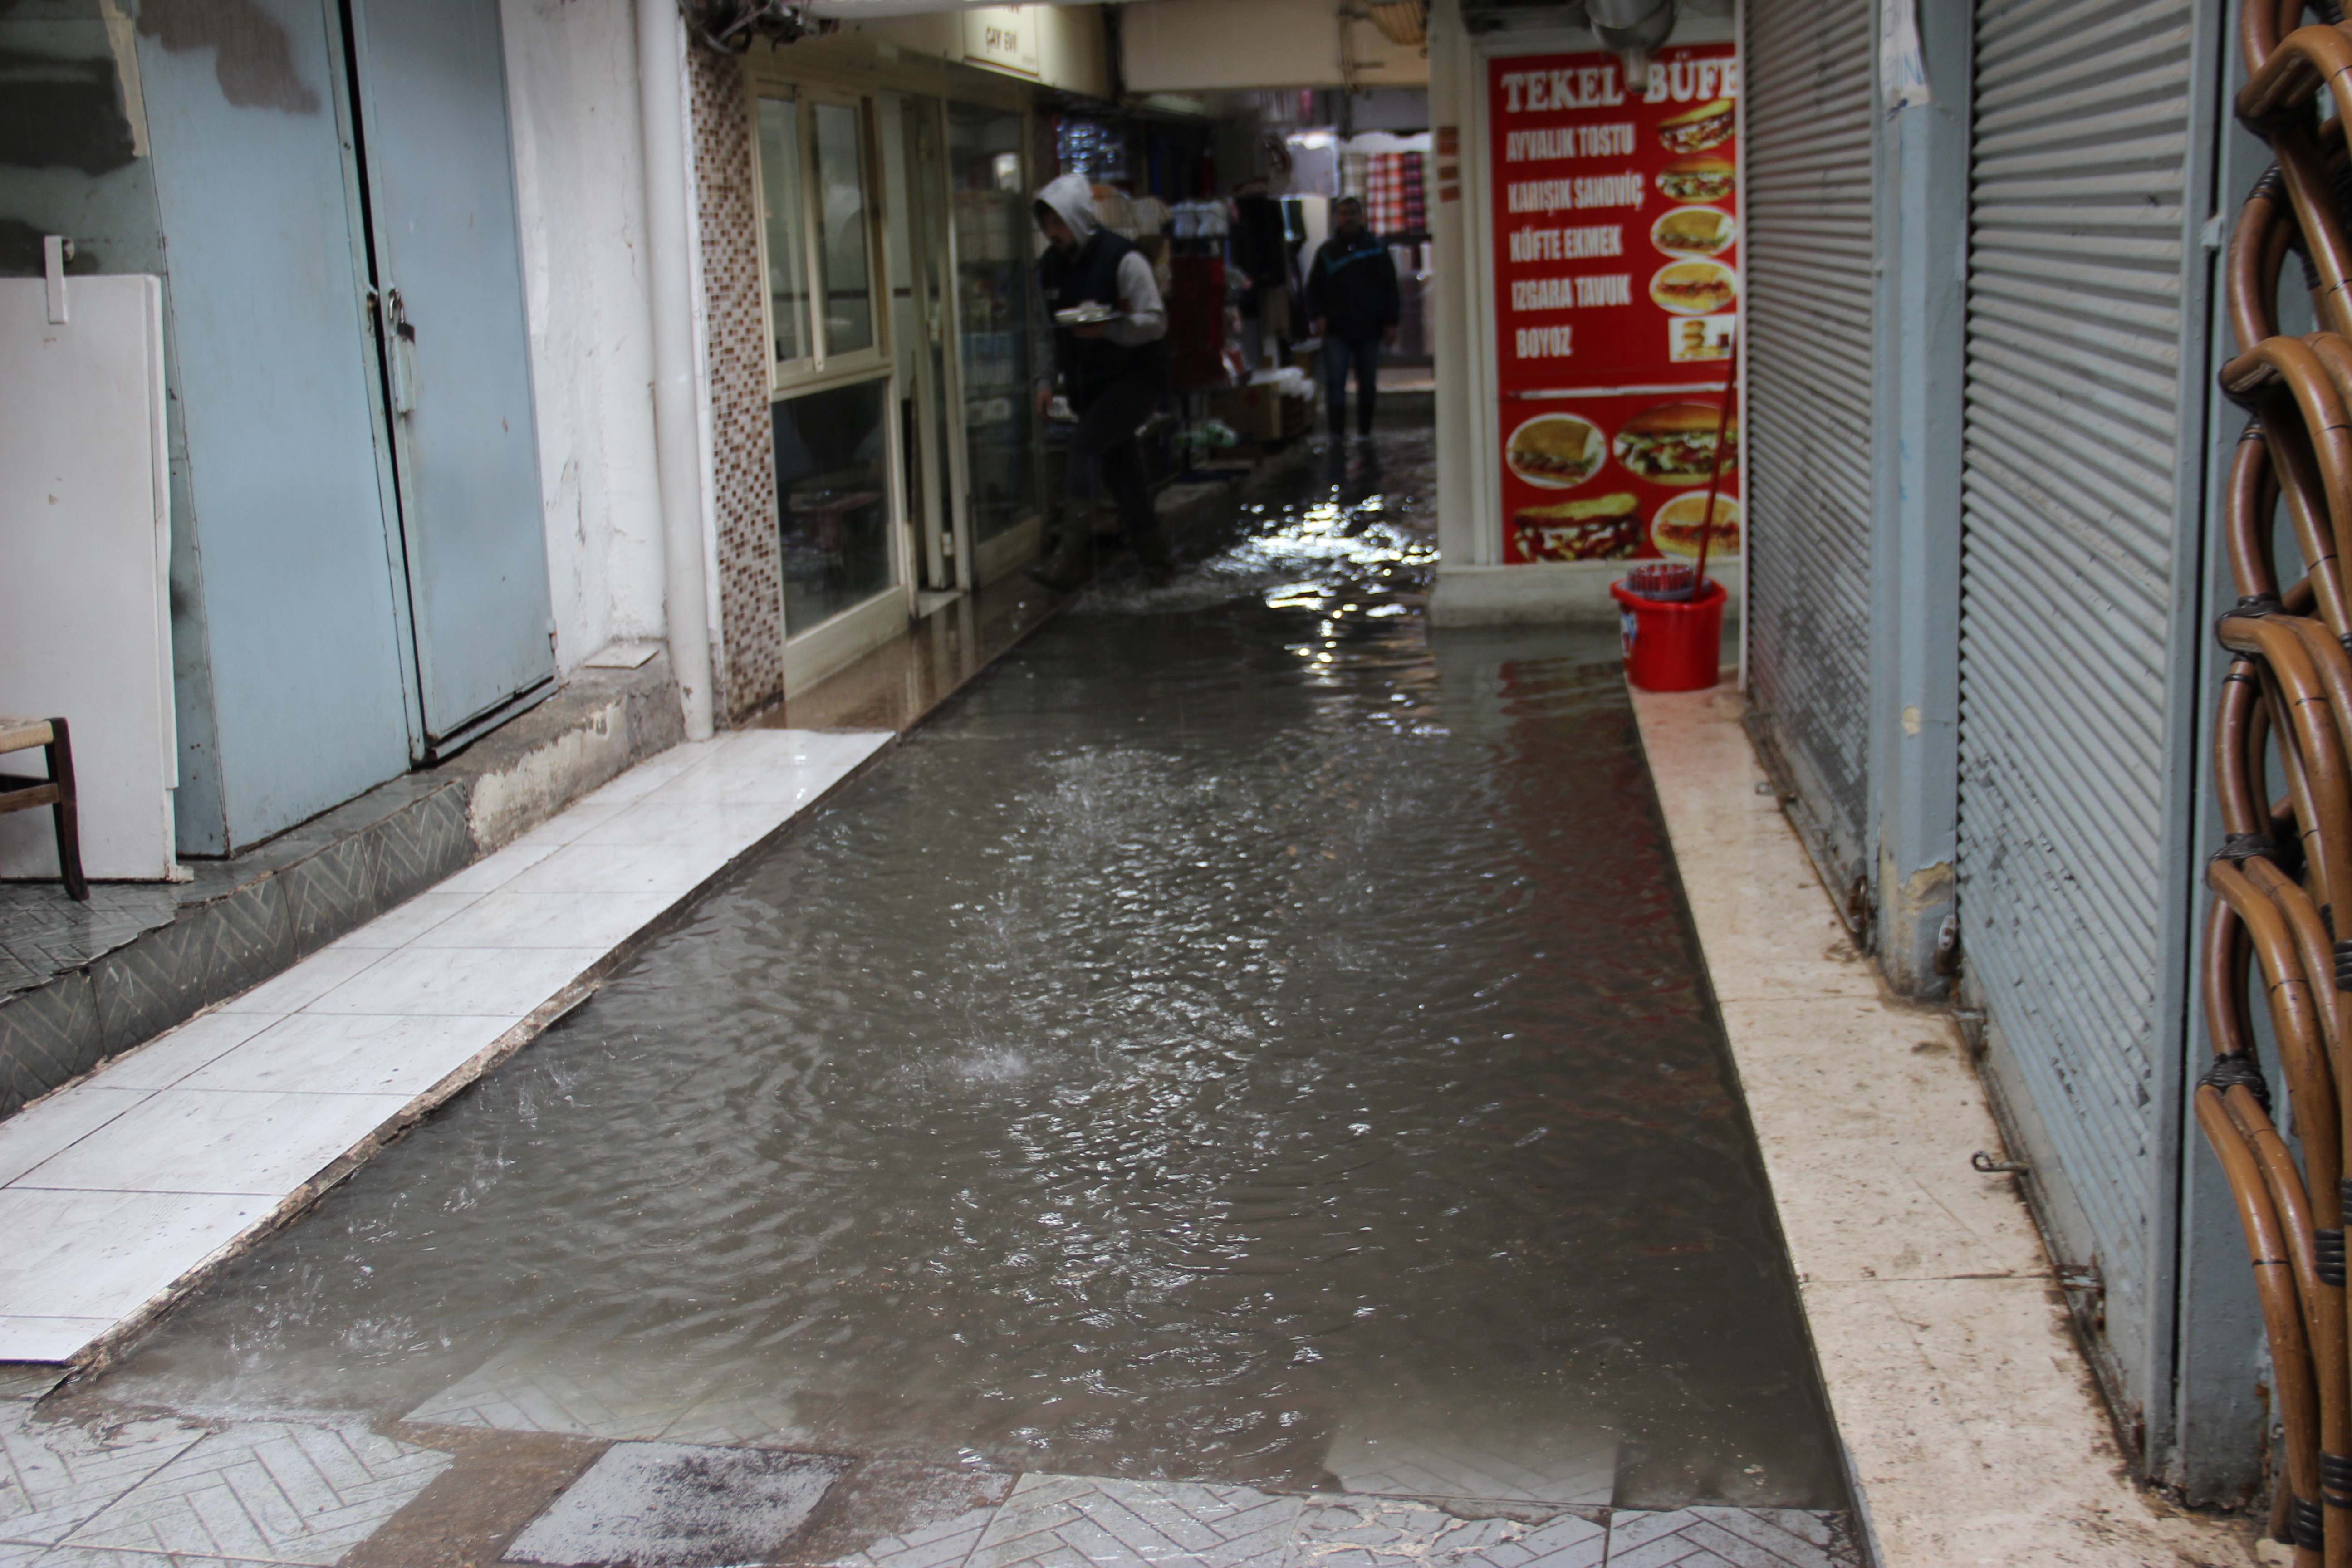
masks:
POLYGON ((1870 865, 1872 0, 1748 7, 1748 670, 1832 886, 1870 865))

